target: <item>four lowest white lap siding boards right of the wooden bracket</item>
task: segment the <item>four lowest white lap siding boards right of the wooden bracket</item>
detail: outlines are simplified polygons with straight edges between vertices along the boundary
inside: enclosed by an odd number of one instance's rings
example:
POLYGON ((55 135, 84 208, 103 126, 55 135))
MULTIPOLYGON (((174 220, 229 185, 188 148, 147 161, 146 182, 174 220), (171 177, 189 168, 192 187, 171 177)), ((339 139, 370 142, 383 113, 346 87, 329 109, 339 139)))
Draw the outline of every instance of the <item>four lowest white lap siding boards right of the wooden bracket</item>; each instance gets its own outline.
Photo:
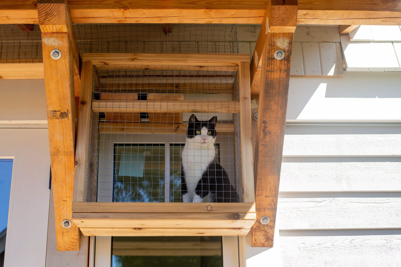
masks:
POLYGON ((288 123, 279 265, 401 266, 400 192, 399 124, 288 123))

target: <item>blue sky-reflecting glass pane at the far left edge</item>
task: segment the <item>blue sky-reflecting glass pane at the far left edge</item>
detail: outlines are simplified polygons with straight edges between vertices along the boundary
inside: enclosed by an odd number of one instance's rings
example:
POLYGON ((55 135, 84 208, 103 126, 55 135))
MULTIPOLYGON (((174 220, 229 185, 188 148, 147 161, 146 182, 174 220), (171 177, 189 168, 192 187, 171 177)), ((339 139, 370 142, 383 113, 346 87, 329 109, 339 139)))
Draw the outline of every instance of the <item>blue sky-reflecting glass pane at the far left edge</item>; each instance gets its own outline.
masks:
POLYGON ((10 189, 12 177, 12 159, 0 159, 0 266, 4 264, 6 249, 6 233, 8 220, 8 205, 10 204, 10 189))

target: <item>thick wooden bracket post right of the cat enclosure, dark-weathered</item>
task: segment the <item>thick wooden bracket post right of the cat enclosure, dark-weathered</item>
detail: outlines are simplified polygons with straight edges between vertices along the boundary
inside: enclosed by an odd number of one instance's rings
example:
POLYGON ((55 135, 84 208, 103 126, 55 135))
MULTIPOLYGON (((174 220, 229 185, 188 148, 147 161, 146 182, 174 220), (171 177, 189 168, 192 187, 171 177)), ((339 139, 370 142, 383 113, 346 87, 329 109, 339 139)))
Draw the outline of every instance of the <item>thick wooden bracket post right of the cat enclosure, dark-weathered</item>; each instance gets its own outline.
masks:
MULTIPOLYGON (((259 49, 263 53, 259 58, 259 61, 261 60, 261 86, 255 136, 256 222, 251 229, 253 247, 273 247, 292 42, 298 8, 297 1, 275 1, 274 6, 278 5, 277 2, 281 2, 283 6, 267 8, 265 27, 262 26, 264 31, 259 33, 257 40, 263 44, 259 44, 259 49), (273 12, 273 10, 275 11, 273 12), (277 52, 276 55, 275 52, 277 52), (268 217, 268 219, 263 220, 264 217, 268 217), (267 223, 267 221, 269 222, 267 223)), ((258 47, 258 45, 256 46, 258 47)), ((253 73, 256 73, 255 54, 253 56, 251 68, 254 68, 253 73)))

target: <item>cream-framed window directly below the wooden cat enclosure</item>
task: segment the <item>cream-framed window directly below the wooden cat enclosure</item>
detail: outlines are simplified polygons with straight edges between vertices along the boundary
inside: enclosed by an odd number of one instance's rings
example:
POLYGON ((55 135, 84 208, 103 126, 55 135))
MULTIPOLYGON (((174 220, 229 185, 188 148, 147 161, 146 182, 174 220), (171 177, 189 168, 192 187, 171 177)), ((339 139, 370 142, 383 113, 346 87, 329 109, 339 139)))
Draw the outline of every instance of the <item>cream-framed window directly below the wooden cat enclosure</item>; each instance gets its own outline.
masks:
POLYGON ((91 239, 95 251, 90 267, 239 267, 236 236, 91 239))

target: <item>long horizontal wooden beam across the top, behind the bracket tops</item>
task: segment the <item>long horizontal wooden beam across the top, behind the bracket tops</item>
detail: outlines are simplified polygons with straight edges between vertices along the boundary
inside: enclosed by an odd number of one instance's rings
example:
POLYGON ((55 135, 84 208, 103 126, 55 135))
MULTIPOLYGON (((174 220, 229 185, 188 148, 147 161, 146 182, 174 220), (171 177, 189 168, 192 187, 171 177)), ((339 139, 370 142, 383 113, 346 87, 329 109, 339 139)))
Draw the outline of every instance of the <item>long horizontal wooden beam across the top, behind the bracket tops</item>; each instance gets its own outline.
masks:
MULTIPOLYGON (((261 24, 268 0, 69 0, 73 23, 261 24), (94 15, 95 14, 95 15, 94 15)), ((299 0, 298 24, 401 25, 401 2, 299 0)), ((38 23, 32 0, 2 0, 0 24, 38 23)))

